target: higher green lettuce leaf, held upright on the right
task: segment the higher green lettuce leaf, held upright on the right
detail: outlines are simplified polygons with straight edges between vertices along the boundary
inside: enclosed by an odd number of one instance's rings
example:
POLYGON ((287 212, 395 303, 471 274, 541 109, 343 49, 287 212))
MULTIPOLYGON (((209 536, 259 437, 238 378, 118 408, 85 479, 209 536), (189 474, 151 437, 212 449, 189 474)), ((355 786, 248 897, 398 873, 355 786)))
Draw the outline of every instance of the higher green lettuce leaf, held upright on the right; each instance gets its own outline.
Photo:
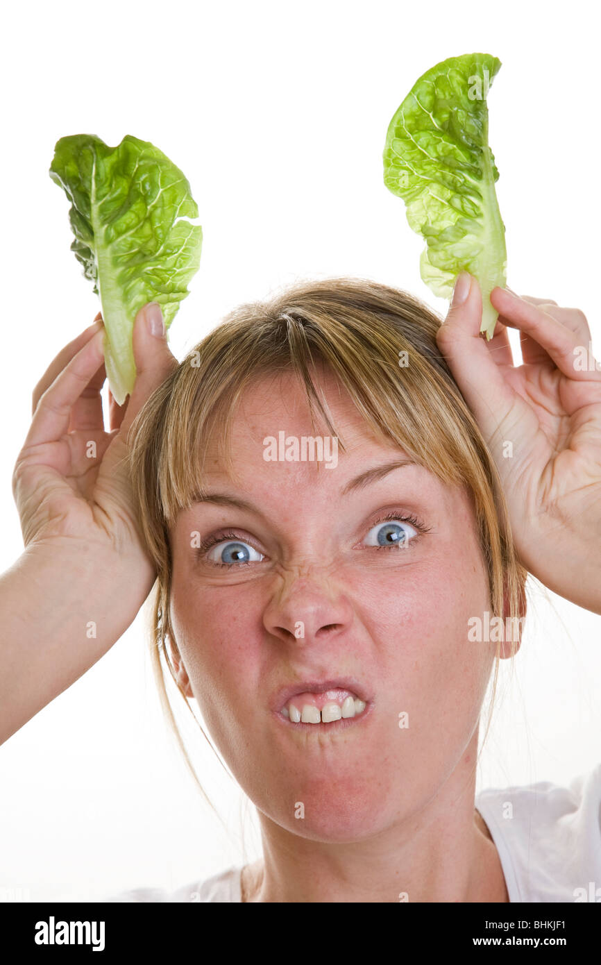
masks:
POLYGON ((488 146, 486 106, 500 67, 489 54, 464 54, 427 70, 396 111, 383 153, 384 183, 405 202, 410 227, 425 238, 423 281, 451 298, 459 272, 474 275, 486 339, 498 317, 490 292, 506 282, 499 172, 488 146))

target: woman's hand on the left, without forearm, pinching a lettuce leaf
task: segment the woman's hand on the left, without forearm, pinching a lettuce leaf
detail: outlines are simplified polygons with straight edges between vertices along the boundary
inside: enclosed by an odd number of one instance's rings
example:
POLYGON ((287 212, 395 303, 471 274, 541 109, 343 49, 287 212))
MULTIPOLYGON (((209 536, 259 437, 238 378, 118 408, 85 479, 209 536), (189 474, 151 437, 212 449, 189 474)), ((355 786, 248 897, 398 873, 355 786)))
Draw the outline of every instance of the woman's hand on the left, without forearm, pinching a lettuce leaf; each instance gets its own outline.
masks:
MULTIPOLYGON (((69 560, 73 554, 86 561, 96 558, 98 567, 126 564, 123 594, 139 600, 142 584, 144 597, 150 592, 154 574, 130 491, 127 432, 178 360, 167 347, 160 307, 150 303, 134 323, 134 390, 123 406, 109 390, 107 429, 100 397, 106 378, 103 334, 98 314, 38 382, 32 424, 14 467, 14 500, 27 553, 56 554, 56 565, 64 554, 69 560), (160 323, 158 335, 151 334, 153 314, 160 323)), ((87 571, 90 575, 94 567, 87 571)))

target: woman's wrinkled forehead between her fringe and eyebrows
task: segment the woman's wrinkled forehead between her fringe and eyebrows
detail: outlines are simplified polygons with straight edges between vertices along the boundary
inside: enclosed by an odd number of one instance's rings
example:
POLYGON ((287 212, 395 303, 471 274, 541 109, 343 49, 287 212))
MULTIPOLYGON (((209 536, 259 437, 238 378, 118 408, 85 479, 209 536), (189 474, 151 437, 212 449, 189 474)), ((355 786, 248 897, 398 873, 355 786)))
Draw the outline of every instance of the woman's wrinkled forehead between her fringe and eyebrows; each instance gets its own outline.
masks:
MULTIPOLYGON (((263 506, 296 506, 299 511, 310 511, 323 498, 334 505, 347 492, 358 489, 352 484, 369 470, 382 469, 369 483, 385 479, 388 465, 410 461, 408 455, 393 439, 376 436, 358 411, 346 389, 328 370, 314 378, 315 389, 344 446, 338 445, 337 464, 326 468, 328 457, 336 446, 318 410, 314 410, 314 424, 304 385, 292 372, 278 372, 258 379, 242 394, 232 418, 232 470, 223 458, 224 439, 214 430, 206 440, 203 462, 205 491, 247 495, 260 499, 263 506), (284 439, 281 440, 281 437, 284 439), (302 445, 303 438, 321 436, 321 461, 311 456, 282 458, 290 439, 302 445), (276 459, 265 458, 266 440, 274 440, 276 459), (327 441, 326 441, 327 440, 327 441)), ((306 450, 307 451, 307 450, 306 450)), ((272 453, 274 450, 272 449, 272 453)), ((419 465, 409 465, 394 471, 390 477, 396 482, 403 478, 404 493, 418 492, 423 500, 441 501, 451 508, 463 498, 461 490, 442 483, 433 473, 419 465)), ((359 488, 366 488, 368 483, 359 488)))

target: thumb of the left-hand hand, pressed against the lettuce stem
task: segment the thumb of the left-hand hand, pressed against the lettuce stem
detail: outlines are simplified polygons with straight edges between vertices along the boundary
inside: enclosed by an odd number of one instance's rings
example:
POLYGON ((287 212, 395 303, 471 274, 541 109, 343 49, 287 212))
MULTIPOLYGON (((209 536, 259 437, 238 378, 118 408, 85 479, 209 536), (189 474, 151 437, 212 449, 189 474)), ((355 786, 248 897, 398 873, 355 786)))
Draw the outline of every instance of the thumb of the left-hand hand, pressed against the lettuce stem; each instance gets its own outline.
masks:
POLYGON ((178 359, 167 346, 165 326, 162 334, 153 335, 152 321, 162 322, 160 306, 150 302, 141 308, 134 319, 133 354, 136 363, 136 381, 123 416, 122 429, 129 431, 133 420, 150 398, 154 390, 178 368, 178 359))

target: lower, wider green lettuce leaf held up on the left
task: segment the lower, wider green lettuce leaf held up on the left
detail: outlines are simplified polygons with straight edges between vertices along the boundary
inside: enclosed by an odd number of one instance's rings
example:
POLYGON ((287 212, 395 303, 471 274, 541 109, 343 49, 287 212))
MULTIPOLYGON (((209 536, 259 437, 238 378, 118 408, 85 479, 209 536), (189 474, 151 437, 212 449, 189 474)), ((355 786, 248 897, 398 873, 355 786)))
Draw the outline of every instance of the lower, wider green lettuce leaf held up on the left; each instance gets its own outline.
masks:
POLYGON ((130 135, 117 148, 93 134, 63 137, 49 173, 71 202, 71 251, 100 297, 106 374, 121 405, 136 376, 136 313, 156 301, 168 329, 199 269, 203 229, 189 220, 198 207, 179 168, 130 135))

